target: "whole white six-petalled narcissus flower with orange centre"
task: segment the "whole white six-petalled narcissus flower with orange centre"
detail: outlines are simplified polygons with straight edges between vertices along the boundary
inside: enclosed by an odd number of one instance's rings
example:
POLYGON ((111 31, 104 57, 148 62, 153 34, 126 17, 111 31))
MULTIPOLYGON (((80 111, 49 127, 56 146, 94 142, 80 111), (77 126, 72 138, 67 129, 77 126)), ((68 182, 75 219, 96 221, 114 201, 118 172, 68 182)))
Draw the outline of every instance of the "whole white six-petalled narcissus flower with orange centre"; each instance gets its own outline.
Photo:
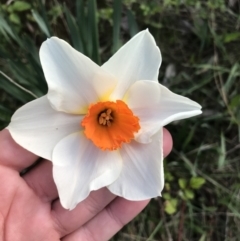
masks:
POLYGON ((129 200, 161 195, 162 127, 201 113, 158 83, 161 54, 142 31, 102 66, 52 37, 40 49, 47 95, 16 111, 8 129, 53 163, 63 207, 107 187, 129 200))

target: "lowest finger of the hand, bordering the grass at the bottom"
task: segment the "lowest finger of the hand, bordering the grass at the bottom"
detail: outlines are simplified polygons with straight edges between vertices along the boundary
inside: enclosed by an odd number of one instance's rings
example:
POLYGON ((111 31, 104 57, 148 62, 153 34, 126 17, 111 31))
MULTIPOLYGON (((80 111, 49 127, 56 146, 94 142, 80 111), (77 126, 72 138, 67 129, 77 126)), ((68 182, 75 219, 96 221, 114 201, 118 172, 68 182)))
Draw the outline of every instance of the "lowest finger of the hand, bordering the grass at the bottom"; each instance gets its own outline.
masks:
POLYGON ((148 202, 149 200, 133 202, 118 197, 95 218, 62 241, 107 241, 141 212, 148 202))

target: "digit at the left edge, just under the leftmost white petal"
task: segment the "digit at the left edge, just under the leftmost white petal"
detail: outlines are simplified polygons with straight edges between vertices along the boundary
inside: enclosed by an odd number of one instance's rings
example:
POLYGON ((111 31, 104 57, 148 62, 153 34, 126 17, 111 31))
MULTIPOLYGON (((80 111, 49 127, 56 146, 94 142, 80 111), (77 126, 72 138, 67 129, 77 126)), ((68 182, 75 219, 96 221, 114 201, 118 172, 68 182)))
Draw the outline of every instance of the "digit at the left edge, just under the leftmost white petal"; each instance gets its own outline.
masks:
POLYGON ((9 131, 0 131, 0 165, 10 167, 18 172, 31 166, 38 157, 19 146, 9 131))

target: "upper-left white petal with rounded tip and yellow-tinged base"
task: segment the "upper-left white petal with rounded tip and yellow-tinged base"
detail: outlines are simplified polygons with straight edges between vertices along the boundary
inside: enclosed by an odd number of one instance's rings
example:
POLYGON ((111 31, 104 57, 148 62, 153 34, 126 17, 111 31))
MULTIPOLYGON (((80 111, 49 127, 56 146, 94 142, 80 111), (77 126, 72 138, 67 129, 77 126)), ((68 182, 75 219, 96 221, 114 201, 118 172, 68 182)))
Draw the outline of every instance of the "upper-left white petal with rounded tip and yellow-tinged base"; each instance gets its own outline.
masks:
POLYGON ((89 104, 106 98, 116 85, 114 77, 56 37, 42 44, 40 60, 48 98, 58 111, 86 113, 89 104))

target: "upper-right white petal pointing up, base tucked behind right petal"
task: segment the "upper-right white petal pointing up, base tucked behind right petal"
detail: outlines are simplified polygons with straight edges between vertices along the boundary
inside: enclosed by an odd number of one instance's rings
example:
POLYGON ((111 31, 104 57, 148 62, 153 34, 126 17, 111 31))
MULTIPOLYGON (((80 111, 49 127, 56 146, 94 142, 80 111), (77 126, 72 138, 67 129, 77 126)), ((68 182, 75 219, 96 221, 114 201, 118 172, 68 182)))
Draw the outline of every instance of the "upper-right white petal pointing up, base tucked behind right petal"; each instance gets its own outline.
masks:
POLYGON ((153 36, 148 30, 138 33, 102 66, 119 80, 111 99, 122 99, 137 80, 157 82, 161 62, 161 53, 153 36))

